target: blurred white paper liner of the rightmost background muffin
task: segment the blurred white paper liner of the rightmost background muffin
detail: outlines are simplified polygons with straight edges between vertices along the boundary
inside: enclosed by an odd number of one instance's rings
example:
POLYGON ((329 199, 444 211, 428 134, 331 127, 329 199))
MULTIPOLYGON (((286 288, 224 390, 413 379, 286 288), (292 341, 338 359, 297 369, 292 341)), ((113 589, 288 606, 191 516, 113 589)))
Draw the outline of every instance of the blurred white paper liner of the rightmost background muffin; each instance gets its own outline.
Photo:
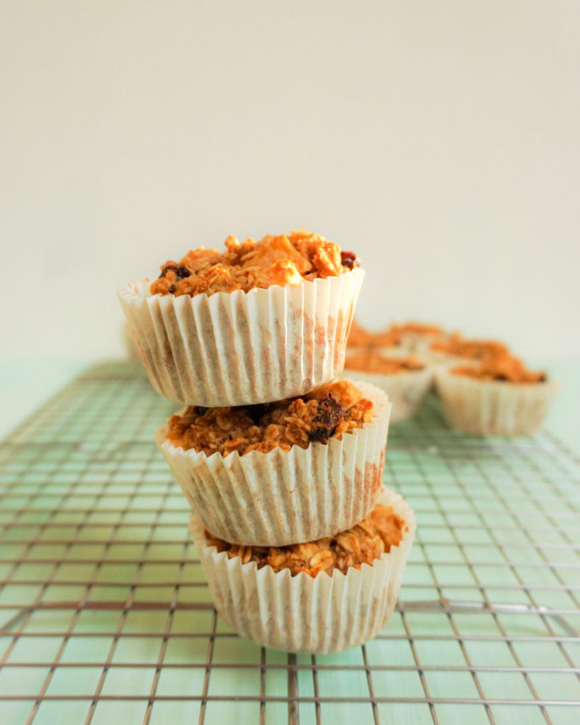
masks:
POLYGON ((435 372, 447 421, 459 431, 489 436, 527 436, 539 431, 558 392, 555 381, 514 384, 454 375, 455 365, 435 372))

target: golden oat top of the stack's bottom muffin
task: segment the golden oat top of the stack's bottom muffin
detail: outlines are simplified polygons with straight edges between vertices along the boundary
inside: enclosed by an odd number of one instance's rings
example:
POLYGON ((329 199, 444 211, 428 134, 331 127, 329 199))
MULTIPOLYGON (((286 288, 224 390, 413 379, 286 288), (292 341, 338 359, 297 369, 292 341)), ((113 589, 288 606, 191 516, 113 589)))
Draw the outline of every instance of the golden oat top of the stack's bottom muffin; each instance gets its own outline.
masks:
POLYGON ((239 546, 216 539, 209 531, 205 534, 208 546, 215 546, 218 552, 228 552, 231 559, 239 557, 243 564, 255 561, 259 569, 268 565, 274 571, 289 569, 291 576, 301 571, 316 576, 321 571, 331 573, 333 569, 339 569, 346 573, 349 567, 360 569, 363 563, 372 565, 374 559, 389 552, 392 546, 399 545, 404 524, 392 506, 378 504, 367 518, 352 529, 305 544, 283 547, 239 546))

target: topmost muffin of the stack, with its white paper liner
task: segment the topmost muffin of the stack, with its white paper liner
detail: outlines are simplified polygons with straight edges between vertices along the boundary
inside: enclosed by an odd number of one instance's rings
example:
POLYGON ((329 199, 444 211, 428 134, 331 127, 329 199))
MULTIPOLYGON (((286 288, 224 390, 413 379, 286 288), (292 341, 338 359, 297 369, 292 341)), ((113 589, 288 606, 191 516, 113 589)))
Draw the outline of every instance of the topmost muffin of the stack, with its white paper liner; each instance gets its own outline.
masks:
POLYGON ((154 388, 219 407, 304 394, 344 367, 364 272, 305 231, 194 249, 119 298, 154 388))

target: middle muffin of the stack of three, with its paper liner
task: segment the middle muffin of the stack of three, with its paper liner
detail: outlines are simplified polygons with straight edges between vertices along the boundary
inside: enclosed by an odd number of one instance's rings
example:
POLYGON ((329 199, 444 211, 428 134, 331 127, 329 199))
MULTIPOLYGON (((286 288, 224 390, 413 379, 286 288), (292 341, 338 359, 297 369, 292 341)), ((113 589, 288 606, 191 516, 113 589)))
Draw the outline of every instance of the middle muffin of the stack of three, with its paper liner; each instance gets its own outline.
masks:
POLYGON ((215 536, 283 546, 333 536, 370 513, 390 411, 376 386, 339 380, 265 405, 191 406, 155 440, 215 536))

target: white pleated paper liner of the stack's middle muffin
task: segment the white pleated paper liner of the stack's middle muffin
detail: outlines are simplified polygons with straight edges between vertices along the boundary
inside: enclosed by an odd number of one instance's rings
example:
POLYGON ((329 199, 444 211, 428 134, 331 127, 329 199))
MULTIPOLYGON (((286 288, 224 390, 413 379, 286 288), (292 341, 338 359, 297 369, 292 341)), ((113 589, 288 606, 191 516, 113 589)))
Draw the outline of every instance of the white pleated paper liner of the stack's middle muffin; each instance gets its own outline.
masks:
POLYGON ((332 536, 373 510, 383 481, 391 404, 375 386, 358 387, 373 401, 373 420, 328 444, 207 456, 175 447, 167 424, 155 441, 192 510, 220 539, 283 546, 332 536))

